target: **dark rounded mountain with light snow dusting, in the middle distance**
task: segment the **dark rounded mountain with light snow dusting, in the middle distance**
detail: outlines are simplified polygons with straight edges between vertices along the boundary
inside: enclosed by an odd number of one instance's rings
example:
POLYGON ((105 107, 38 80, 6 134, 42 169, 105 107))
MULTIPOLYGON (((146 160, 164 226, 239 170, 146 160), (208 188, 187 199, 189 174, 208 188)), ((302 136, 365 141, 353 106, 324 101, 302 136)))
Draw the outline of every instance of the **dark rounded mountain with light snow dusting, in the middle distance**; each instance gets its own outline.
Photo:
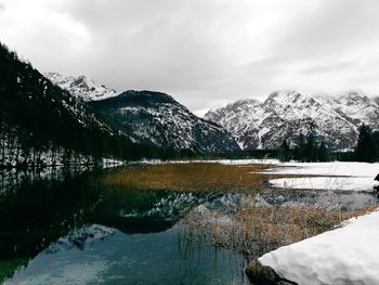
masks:
POLYGON ((165 93, 131 90, 89 104, 116 129, 139 142, 202 153, 239 151, 223 127, 198 118, 165 93))

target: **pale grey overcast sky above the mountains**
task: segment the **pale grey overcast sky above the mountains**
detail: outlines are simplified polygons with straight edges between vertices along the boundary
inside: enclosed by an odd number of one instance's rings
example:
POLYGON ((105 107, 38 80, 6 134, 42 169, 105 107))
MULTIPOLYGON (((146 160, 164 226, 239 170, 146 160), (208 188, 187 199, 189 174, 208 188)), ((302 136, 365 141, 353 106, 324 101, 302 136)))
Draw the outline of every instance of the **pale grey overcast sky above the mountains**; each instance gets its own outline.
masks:
POLYGON ((0 41, 41 72, 193 111, 271 91, 379 94, 378 0, 0 0, 0 41))

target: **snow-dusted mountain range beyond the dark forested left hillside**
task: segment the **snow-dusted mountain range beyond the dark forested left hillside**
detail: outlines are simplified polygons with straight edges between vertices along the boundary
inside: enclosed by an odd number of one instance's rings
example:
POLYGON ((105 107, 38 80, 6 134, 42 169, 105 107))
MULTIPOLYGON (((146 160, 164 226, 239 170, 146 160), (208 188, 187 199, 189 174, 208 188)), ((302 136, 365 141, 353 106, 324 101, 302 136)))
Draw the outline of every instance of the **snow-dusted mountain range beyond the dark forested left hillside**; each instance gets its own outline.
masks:
POLYGON ((343 151, 355 147, 362 124, 379 128, 377 101, 357 91, 339 96, 276 91, 264 102, 239 100, 211 109, 202 119, 165 93, 129 90, 118 94, 84 76, 45 76, 134 142, 159 147, 202 153, 273 150, 285 140, 295 146, 300 134, 312 130, 330 150, 343 151))

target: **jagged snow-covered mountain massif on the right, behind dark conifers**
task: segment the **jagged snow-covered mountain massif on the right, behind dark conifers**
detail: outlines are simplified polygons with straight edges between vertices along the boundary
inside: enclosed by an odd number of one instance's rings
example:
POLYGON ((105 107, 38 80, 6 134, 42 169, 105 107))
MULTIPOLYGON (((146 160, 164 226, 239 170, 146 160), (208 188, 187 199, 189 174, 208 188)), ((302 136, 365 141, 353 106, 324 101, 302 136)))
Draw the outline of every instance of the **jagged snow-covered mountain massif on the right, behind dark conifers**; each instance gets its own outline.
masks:
POLYGON ((354 147, 362 122, 379 127, 379 105, 355 91, 338 98, 278 91, 263 103, 237 101, 205 118, 225 127, 244 150, 276 148, 284 140, 293 145, 311 128, 330 147, 343 150, 354 147))

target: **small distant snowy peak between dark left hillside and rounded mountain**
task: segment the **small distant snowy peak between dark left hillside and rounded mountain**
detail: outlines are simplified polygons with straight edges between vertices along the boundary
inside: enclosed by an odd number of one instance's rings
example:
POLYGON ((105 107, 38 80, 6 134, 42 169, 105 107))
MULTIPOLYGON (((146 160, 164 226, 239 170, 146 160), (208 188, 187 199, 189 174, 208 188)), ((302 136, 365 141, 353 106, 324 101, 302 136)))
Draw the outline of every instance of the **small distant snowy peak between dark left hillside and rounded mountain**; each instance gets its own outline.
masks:
POLYGON ((118 94, 116 90, 96 83, 83 75, 78 77, 64 76, 58 73, 45 73, 43 75, 54 85, 60 86, 62 89, 70 92, 71 95, 81 99, 84 102, 113 98, 118 94))

